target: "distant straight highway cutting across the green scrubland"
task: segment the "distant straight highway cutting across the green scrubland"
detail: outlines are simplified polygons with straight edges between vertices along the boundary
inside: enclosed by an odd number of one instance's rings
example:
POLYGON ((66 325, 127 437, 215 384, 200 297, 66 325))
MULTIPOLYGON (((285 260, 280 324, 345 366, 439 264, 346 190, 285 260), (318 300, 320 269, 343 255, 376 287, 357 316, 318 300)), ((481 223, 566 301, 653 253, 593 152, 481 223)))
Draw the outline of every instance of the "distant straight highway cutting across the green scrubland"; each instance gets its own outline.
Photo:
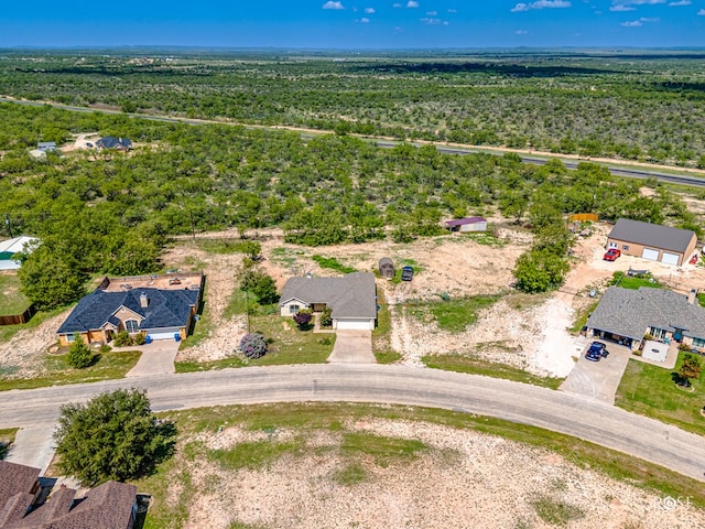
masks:
MULTIPOLYGON (((259 125, 242 125, 242 123, 228 123, 228 122, 223 122, 223 121, 215 121, 215 120, 206 120, 206 119, 189 119, 189 118, 171 118, 169 116, 154 116, 154 115, 149 115, 149 114, 127 114, 127 112, 122 112, 120 110, 110 110, 110 109, 100 109, 100 108, 88 108, 88 107, 74 107, 70 105, 61 105, 61 104, 55 104, 55 102, 40 102, 40 101, 24 101, 24 100, 20 100, 20 99, 11 99, 11 98, 7 98, 7 97, 0 97, 0 102, 14 102, 17 105, 28 105, 31 107, 43 107, 45 105, 50 105, 54 108, 61 108, 63 110, 69 110, 73 112, 101 112, 101 114, 124 114, 126 116, 130 116, 133 118, 140 118, 140 119, 149 119, 152 121, 166 121, 166 122, 172 122, 172 123, 186 123, 186 125, 234 125, 234 126, 243 126, 246 128, 249 129, 285 129, 285 130, 291 130, 291 131, 296 131, 296 130, 302 130, 302 129, 297 129, 296 127, 268 127, 268 126, 259 126, 259 125)), ((311 130, 306 130, 305 132, 302 132, 302 137, 313 137, 314 134, 329 134, 330 131, 329 130, 322 130, 319 132, 312 132, 311 130)), ((390 140, 376 140, 373 138, 369 138, 369 137, 364 137, 367 138, 371 141, 373 141, 378 147, 383 148, 383 149, 391 149, 400 143, 403 143, 402 141, 390 141, 390 140)), ((412 142, 412 144, 415 144, 412 142)), ((433 144, 433 143, 432 143, 433 144)), ((416 147, 419 147, 419 144, 415 144, 416 147)), ((489 152, 502 152, 501 148, 491 148, 489 150, 486 149, 474 149, 471 147, 468 148, 457 148, 457 147, 444 147, 444 145, 440 145, 436 144, 436 149, 438 152, 442 152, 444 154, 457 154, 457 155, 464 155, 464 154, 470 154, 470 153, 478 153, 478 152, 485 152, 487 153, 489 152)), ((552 156, 553 158, 553 156, 552 156)), ((560 156, 558 156, 560 158, 560 156)), ((550 158, 539 158, 535 155, 522 155, 521 156, 521 161, 524 163, 532 163, 535 165, 543 165, 544 163, 546 163, 550 160, 550 158)), ((561 159, 561 161, 565 164, 565 166, 567 169, 577 169, 578 163, 581 163, 581 161, 575 161, 575 160, 564 160, 561 159)), ((670 174, 670 173, 661 173, 658 171, 647 171, 647 170, 642 170, 642 169, 629 169, 629 168, 618 168, 618 166, 607 166, 607 169, 609 170, 609 172, 614 175, 614 176, 625 176, 628 179, 642 179, 642 180, 647 180, 647 179, 655 179, 659 182, 664 182, 664 183, 669 183, 669 184, 680 184, 680 185, 690 185, 693 187, 705 187, 705 177, 697 177, 697 176, 684 176, 684 175, 676 175, 676 174, 670 174)))

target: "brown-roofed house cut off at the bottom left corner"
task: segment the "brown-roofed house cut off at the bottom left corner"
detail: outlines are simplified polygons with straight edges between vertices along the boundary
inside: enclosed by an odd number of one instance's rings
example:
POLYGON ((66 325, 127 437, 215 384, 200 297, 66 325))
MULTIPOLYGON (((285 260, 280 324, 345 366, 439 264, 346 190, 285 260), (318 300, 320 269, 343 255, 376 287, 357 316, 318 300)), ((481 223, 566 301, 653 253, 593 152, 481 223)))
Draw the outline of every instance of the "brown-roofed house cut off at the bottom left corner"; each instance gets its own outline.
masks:
POLYGON ((45 500, 51 488, 48 482, 40 481, 39 468, 0 461, 0 529, 134 527, 134 485, 106 482, 82 497, 73 488, 61 487, 45 500))

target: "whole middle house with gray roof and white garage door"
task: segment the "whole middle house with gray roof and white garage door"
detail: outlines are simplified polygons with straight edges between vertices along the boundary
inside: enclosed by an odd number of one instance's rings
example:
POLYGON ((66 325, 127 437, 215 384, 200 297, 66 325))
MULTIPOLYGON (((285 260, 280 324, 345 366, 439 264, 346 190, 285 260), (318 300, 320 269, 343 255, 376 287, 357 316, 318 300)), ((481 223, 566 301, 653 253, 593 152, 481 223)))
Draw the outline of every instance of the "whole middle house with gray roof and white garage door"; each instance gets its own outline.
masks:
POLYGON ((370 272, 348 273, 340 278, 291 278, 279 303, 282 316, 303 309, 330 310, 333 328, 373 330, 377 322, 377 285, 370 272))

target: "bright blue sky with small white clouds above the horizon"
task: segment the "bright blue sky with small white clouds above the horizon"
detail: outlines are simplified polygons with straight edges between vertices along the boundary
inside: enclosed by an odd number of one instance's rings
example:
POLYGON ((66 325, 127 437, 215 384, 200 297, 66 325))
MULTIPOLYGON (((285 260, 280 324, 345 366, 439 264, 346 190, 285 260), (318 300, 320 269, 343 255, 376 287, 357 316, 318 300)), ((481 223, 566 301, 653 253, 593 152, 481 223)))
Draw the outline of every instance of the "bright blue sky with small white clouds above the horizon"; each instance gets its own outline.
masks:
POLYGON ((705 46, 705 0, 3 3, 0 46, 705 46))

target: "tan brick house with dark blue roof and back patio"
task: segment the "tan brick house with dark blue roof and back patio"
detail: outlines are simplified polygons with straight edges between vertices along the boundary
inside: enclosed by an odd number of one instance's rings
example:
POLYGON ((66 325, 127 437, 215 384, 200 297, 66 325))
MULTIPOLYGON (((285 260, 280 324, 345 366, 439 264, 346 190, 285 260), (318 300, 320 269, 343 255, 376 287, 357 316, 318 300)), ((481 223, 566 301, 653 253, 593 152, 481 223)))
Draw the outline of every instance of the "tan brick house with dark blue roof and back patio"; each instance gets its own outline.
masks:
POLYGON ((61 345, 72 344, 76 335, 86 344, 107 344, 122 331, 132 336, 143 334, 150 341, 184 339, 200 303, 203 276, 195 276, 193 281, 158 276, 143 281, 106 278, 58 328, 61 345))

